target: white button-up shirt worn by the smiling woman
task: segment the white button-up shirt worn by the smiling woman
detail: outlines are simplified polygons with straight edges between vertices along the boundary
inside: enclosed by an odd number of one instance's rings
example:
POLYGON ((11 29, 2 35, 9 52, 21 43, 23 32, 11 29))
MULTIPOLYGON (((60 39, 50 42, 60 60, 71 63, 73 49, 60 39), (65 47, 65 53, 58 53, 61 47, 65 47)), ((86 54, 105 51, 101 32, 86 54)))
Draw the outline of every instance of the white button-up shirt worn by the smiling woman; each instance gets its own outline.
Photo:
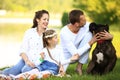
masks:
POLYGON ((43 39, 37 33, 37 28, 28 29, 25 32, 22 45, 20 47, 19 53, 25 53, 29 60, 35 65, 39 65, 38 58, 40 56, 40 51, 43 49, 43 39))

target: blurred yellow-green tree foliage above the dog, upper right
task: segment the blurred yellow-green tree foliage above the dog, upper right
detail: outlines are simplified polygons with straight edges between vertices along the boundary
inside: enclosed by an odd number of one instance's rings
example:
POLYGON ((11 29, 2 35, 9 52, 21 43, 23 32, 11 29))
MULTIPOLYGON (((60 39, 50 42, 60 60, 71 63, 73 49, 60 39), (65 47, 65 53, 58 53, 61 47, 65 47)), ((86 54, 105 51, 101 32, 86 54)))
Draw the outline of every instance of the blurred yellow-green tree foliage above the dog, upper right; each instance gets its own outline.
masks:
POLYGON ((120 21, 119 0, 74 0, 74 7, 83 9, 91 20, 113 24, 120 21))

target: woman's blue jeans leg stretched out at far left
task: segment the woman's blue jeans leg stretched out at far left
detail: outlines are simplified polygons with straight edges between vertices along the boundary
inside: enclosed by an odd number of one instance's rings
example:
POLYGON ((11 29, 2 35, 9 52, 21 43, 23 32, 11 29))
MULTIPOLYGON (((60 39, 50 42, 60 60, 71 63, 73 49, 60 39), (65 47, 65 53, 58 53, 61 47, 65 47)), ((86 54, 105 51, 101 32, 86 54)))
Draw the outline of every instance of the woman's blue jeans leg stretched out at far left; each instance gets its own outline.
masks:
POLYGON ((16 65, 14 65, 11 68, 7 68, 5 70, 3 70, 3 74, 5 75, 9 75, 9 74, 13 74, 13 75, 18 75, 21 73, 22 68, 25 66, 25 62, 23 59, 21 59, 16 65))

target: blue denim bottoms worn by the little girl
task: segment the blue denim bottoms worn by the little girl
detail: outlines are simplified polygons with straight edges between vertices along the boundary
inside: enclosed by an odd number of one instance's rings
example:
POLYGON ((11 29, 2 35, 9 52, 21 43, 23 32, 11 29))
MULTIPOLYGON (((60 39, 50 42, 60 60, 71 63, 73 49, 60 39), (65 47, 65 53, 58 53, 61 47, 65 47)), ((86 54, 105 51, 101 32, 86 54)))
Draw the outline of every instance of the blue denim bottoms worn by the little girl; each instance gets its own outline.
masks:
POLYGON ((44 60, 40 65, 37 66, 39 71, 45 71, 48 70, 52 74, 56 75, 59 71, 59 66, 55 63, 49 62, 47 60, 44 60))

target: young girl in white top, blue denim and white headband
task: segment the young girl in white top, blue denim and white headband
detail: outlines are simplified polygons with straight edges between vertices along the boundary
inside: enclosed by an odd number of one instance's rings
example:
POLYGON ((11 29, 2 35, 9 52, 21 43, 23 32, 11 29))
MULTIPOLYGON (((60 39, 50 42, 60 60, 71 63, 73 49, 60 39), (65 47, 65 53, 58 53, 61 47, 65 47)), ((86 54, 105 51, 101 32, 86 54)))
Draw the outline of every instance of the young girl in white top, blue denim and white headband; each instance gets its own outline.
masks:
MULTIPOLYGON (((41 58, 44 59, 44 66, 47 66, 45 67, 46 70, 49 70, 54 75, 58 73, 63 75, 63 65, 78 59, 76 55, 68 60, 64 59, 62 48, 58 45, 57 33, 53 29, 49 29, 43 33, 43 42, 45 48, 40 53, 41 58)), ((40 66, 42 66, 43 63, 40 66)))

